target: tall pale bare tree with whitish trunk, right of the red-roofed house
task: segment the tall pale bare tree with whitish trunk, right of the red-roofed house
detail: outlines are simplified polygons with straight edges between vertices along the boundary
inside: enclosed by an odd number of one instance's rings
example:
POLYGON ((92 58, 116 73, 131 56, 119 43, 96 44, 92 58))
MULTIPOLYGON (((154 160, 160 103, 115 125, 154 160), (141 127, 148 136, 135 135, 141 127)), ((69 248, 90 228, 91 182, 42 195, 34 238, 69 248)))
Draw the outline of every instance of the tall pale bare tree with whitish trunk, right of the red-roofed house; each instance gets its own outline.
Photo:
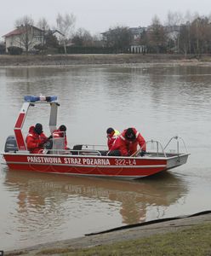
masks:
POLYGON ((60 43, 64 44, 64 49, 66 53, 66 39, 71 37, 71 32, 75 26, 76 17, 71 14, 57 15, 56 24, 57 29, 64 35, 60 36, 60 43))

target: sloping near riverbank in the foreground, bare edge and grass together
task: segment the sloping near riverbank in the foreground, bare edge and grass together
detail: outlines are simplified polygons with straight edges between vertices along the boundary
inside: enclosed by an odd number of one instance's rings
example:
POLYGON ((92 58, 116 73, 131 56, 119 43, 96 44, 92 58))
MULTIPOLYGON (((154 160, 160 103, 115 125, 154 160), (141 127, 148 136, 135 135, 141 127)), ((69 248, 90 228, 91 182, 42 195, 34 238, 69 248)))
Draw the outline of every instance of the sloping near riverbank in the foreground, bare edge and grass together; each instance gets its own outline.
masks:
POLYGON ((211 213, 137 225, 4 255, 210 255, 211 213))

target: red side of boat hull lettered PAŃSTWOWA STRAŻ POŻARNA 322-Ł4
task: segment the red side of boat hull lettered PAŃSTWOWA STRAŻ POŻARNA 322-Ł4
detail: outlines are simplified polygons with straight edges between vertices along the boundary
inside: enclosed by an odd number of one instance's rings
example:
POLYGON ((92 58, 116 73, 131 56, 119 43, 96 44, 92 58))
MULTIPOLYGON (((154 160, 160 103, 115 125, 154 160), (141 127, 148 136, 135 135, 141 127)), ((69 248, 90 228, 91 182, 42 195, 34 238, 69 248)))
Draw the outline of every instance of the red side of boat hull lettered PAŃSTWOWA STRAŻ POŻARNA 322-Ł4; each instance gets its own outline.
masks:
POLYGON ((3 154, 10 169, 134 179, 167 169, 166 159, 103 156, 3 154))

